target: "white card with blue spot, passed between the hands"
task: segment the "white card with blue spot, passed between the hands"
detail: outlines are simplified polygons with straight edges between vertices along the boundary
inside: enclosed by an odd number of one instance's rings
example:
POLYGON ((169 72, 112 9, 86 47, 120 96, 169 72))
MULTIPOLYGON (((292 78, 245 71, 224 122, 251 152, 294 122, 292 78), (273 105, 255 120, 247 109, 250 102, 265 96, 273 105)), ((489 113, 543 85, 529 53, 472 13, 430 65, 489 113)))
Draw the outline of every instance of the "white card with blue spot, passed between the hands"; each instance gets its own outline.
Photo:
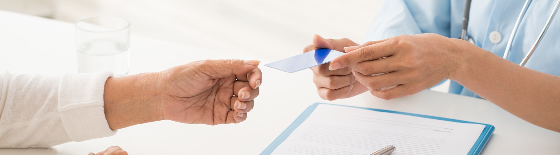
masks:
POLYGON ((286 59, 271 62, 270 64, 266 64, 265 66, 292 73, 328 63, 343 54, 345 53, 331 49, 317 49, 305 52, 300 55, 288 57, 286 59))

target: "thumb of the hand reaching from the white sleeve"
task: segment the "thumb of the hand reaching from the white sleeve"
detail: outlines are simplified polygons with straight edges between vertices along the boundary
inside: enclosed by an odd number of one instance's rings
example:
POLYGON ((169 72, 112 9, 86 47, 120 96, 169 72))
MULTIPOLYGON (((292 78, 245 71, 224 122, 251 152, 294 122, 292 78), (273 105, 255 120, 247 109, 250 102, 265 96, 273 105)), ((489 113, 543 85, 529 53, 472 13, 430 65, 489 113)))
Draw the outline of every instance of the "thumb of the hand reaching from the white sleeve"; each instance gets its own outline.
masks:
POLYGON ((204 60, 197 68, 212 79, 218 79, 231 75, 248 74, 256 69, 259 63, 259 60, 204 60))

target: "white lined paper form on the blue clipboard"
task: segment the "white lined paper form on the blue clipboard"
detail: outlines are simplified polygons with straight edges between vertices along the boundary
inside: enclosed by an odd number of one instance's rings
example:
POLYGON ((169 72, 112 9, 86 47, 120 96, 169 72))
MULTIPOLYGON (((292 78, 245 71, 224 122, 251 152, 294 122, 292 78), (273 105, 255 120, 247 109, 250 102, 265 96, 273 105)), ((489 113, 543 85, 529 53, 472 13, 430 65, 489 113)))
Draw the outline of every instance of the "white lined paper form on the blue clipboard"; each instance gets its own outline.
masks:
POLYGON ((467 154, 482 124, 320 104, 272 154, 361 155, 394 145, 399 154, 467 154))

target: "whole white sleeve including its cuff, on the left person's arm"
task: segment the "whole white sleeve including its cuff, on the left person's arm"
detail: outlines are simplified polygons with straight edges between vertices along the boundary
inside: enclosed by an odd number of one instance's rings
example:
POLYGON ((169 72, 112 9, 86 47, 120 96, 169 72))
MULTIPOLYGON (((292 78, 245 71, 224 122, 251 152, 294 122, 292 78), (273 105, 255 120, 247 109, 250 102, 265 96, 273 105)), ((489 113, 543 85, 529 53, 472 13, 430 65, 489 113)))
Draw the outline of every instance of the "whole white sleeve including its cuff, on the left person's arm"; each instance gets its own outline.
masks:
POLYGON ((63 77, 0 74, 0 148, 52 147, 108 137, 103 109, 111 72, 63 77))

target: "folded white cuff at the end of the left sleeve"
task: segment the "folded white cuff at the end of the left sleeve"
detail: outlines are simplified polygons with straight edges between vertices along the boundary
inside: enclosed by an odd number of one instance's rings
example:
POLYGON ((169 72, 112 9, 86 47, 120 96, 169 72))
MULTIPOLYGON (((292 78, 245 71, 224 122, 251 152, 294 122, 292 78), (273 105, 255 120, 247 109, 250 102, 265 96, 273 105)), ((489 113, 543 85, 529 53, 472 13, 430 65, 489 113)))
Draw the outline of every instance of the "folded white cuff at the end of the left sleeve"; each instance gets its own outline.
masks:
POLYGON ((116 133, 105 119, 103 93, 112 72, 72 73, 60 80, 58 112, 72 141, 109 137, 116 133))

